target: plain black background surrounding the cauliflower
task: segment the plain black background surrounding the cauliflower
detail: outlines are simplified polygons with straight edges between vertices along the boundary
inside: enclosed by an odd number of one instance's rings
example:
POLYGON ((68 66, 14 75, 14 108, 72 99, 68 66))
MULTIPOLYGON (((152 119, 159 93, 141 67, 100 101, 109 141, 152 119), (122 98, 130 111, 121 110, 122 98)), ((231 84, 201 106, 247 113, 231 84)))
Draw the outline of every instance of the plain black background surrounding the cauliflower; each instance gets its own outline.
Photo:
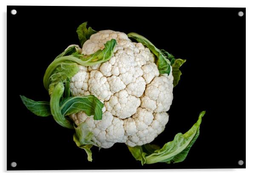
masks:
POLYGON ((7 170, 245 168, 245 8, 142 8, 8 6, 7 170), (11 15, 11 9, 17 14, 11 15), (200 135, 184 162, 141 166, 124 143, 93 161, 73 141, 74 131, 37 117, 19 95, 48 101, 43 75, 70 44, 82 22, 94 30, 136 32, 156 47, 187 59, 174 88, 163 145, 186 132, 206 110, 200 135), (11 162, 17 162, 11 168, 11 162))

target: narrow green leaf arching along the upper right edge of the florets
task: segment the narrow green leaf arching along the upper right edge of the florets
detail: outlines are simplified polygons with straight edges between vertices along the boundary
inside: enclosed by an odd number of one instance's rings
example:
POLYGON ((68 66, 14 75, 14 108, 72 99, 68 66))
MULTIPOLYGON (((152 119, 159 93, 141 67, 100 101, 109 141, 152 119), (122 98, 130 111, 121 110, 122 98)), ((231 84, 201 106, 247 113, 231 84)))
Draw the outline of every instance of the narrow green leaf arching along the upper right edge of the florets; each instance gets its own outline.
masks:
POLYGON ((127 36, 129 38, 134 38, 138 42, 142 43, 143 45, 148 47, 148 49, 151 50, 151 52, 153 52, 154 55, 156 55, 156 57, 157 57, 156 65, 157 65, 157 68, 158 68, 160 74, 165 74, 165 73, 168 75, 170 74, 170 72, 171 72, 170 60, 168 60, 168 58, 166 58, 165 54, 163 54, 159 49, 157 49, 154 46, 154 44, 152 44, 147 38, 145 38, 137 33, 128 33, 127 36))

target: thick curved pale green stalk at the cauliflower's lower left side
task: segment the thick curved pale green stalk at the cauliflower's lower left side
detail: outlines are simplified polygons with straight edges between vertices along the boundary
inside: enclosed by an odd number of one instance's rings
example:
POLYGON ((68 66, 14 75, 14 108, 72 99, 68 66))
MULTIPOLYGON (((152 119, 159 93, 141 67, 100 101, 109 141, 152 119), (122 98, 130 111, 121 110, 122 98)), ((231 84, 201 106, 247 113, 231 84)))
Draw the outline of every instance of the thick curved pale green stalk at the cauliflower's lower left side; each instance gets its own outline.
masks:
POLYGON ((53 89, 51 93, 50 107, 51 114, 54 120, 63 127, 74 129, 73 123, 65 118, 65 116, 61 113, 60 109, 60 99, 63 96, 64 85, 63 82, 59 82, 53 89))

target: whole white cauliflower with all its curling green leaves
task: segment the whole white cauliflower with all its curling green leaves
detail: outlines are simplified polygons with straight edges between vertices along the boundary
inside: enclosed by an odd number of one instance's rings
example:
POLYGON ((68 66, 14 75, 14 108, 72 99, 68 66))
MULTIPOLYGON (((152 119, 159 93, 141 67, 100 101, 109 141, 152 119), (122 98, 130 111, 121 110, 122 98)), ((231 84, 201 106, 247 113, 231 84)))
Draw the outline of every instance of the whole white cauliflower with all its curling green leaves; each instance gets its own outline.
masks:
POLYGON ((125 143, 142 165, 182 162, 199 135, 205 111, 188 132, 178 133, 162 148, 149 143, 169 120, 173 88, 185 60, 137 33, 97 32, 86 25, 77 28, 82 48, 69 45, 46 69, 43 84, 50 101, 20 96, 23 103, 32 113, 52 115, 61 126, 74 129, 73 140, 88 161, 92 146, 125 143))

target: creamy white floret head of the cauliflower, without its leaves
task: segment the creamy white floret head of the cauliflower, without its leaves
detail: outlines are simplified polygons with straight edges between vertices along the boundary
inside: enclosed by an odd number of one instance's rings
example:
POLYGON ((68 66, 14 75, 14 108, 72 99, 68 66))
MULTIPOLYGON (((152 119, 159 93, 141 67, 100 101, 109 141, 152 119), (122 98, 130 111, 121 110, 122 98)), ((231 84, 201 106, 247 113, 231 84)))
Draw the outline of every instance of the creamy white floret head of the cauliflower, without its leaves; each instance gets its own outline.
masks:
POLYGON ((141 146, 150 143, 165 129, 173 99, 173 76, 159 74, 154 55, 125 33, 102 30, 82 46, 82 54, 102 50, 114 38, 112 58, 94 66, 79 66, 71 78, 73 96, 94 95, 104 103, 102 120, 85 113, 72 114, 75 124, 87 122, 95 143, 110 148, 114 143, 141 146))

